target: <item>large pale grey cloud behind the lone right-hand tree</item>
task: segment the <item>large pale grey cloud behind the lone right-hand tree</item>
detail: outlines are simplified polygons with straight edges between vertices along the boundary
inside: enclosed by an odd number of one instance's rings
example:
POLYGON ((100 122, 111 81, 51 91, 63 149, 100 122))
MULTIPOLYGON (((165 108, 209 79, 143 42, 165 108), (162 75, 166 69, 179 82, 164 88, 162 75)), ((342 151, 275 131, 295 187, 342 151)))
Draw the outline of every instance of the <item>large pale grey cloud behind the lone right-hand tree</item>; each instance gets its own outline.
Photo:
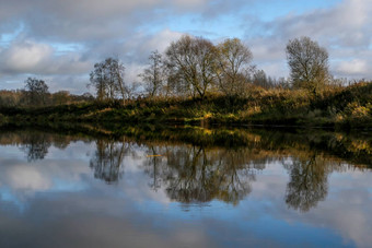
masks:
MULTIPOLYGON (((247 27, 246 40, 252 44, 259 63, 277 64, 279 68, 279 63, 286 64, 288 40, 310 36, 330 51, 332 62, 341 60, 330 64, 334 74, 371 79, 372 57, 364 57, 371 54, 371 15, 369 0, 344 0, 332 8, 309 10, 301 14, 291 12, 269 22, 255 20, 247 27)), ((281 68, 281 72, 287 73, 284 67, 281 68)))

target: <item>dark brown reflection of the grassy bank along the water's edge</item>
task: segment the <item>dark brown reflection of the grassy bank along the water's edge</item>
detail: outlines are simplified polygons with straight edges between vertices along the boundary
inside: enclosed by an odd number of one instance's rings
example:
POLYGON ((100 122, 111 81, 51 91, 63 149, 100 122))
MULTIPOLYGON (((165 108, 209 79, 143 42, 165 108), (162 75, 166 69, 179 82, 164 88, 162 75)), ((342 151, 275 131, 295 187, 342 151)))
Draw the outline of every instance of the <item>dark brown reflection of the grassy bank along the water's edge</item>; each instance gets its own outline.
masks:
POLYGON ((372 133, 336 133, 295 129, 205 129, 200 127, 125 127, 117 131, 137 143, 189 143, 200 146, 249 147, 257 153, 324 153, 359 167, 372 166, 372 133))

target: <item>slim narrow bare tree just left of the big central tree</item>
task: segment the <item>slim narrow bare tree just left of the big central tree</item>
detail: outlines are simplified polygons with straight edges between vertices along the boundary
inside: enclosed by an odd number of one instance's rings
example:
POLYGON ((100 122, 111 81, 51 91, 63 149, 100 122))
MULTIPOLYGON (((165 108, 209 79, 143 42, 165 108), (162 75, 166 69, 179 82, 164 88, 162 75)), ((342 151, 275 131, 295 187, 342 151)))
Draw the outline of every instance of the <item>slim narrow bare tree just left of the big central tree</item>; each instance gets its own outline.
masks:
POLYGON ((152 51, 149 57, 149 67, 139 76, 146 83, 144 90, 153 97, 161 94, 165 81, 162 55, 158 50, 152 51))

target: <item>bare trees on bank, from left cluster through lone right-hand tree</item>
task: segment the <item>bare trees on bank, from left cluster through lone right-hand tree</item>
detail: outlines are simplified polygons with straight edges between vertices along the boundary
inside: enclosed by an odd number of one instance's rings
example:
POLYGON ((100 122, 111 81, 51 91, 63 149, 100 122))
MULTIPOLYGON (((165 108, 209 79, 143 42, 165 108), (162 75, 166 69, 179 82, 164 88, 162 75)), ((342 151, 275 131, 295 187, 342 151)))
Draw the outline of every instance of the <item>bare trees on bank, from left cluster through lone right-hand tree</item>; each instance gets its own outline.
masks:
POLYGON ((90 85, 98 101, 131 98, 135 92, 146 97, 191 97, 208 95, 246 97, 254 88, 305 90, 319 95, 329 87, 345 85, 329 73, 328 52, 309 37, 289 40, 286 47, 290 76, 272 79, 253 63, 253 52, 237 38, 212 44, 202 37, 185 35, 164 54, 152 51, 138 84, 125 82, 125 66, 107 58, 94 66, 90 85))

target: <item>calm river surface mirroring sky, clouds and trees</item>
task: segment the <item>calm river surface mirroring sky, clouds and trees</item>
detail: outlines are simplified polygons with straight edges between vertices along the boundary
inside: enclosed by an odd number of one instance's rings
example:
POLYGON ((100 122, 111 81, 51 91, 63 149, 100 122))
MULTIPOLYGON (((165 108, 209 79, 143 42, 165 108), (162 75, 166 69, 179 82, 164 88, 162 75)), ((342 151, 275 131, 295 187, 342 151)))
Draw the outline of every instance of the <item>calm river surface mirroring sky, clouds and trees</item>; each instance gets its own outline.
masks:
POLYGON ((0 247, 372 246, 368 133, 128 133, 2 131, 0 247))

